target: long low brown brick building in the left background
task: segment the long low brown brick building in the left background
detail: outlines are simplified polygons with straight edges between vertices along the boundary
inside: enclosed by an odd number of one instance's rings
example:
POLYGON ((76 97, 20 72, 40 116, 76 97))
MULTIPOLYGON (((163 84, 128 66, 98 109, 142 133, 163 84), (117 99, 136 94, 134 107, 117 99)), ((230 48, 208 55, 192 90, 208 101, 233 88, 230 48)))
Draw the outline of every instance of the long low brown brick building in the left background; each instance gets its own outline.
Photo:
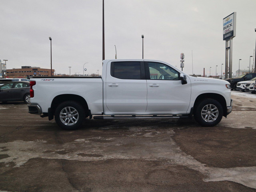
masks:
POLYGON ((54 75, 54 69, 52 69, 52 75, 50 75, 51 69, 42 69, 40 67, 22 66, 21 69, 6 69, 5 77, 9 78, 28 78, 32 76, 49 77, 54 75))

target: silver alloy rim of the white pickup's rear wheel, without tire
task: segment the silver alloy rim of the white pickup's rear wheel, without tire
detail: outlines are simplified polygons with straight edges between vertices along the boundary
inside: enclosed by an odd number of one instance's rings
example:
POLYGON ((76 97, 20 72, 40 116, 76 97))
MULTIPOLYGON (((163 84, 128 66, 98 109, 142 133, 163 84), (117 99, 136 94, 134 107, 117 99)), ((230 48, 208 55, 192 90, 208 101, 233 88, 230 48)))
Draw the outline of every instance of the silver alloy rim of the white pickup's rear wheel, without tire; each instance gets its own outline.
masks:
POLYGON ((60 120, 64 125, 74 125, 79 118, 78 111, 74 107, 64 107, 60 111, 60 120))

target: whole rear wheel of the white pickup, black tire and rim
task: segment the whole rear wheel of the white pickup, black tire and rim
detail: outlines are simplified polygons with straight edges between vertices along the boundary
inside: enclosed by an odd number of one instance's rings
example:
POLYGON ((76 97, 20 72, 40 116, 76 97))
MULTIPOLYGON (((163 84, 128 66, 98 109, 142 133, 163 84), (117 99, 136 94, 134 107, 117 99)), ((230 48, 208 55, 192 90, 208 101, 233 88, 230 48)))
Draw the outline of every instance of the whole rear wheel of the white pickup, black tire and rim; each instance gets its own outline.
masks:
POLYGON ((85 111, 76 101, 64 101, 56 108, 54 117, 57 125, 62 129, 76 130, 85 119, 85 111))

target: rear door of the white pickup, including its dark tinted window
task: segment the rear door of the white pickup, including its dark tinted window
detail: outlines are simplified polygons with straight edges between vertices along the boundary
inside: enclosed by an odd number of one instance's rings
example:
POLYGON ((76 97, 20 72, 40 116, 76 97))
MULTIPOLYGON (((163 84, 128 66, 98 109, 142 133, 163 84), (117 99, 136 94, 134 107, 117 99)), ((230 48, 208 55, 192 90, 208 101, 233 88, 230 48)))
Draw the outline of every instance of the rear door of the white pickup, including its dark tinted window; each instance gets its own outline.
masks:
POLYGON ((108 110, 145 112, 147 83, 144 62, 112 61, 107 65, 105 99, 108 110))

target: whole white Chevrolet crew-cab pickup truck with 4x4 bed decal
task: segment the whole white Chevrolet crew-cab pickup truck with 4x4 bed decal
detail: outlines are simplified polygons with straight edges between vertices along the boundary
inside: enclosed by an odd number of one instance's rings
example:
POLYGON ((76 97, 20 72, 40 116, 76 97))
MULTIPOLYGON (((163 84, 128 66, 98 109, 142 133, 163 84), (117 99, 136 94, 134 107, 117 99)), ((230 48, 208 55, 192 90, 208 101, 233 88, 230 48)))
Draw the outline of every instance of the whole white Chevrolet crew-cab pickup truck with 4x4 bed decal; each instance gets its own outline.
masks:
POLYGON ((66 130, 86 117, 182 118, 218 124, 232 111, 228 81, 186 75, 154 60, 103 61, 102 77, 33 77, 28 112, 66 130))

